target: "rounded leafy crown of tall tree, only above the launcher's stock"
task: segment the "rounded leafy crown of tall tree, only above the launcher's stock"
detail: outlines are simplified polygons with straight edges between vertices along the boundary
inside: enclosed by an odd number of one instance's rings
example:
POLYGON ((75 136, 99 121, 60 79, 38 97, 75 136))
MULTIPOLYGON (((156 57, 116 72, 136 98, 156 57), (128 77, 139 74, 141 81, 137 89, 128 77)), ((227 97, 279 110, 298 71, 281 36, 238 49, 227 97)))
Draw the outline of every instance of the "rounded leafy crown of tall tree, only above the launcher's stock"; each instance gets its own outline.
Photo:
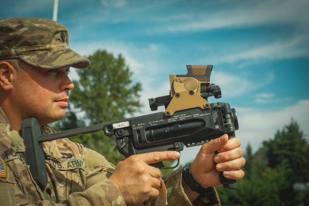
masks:
POLYGON ((106 51, 88 57, 86 69, 78 69, 79 81, 70 94, 75 108, 85 111, 90 124, 124 119, 139 111, 141 84, 133 84, 132 72, 121 54, 115 58, 106 51))

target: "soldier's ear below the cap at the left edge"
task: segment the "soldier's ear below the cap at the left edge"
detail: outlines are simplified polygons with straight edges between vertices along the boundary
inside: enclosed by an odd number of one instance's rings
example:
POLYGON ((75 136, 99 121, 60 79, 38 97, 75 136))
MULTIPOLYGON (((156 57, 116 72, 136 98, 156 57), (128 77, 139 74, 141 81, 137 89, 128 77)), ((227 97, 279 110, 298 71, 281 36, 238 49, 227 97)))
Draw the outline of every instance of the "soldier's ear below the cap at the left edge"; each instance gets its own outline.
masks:
POLYGON ((15 68, 6 61, 0 61, 0 87, 3 90, 12 89, 13 71, 15 68))

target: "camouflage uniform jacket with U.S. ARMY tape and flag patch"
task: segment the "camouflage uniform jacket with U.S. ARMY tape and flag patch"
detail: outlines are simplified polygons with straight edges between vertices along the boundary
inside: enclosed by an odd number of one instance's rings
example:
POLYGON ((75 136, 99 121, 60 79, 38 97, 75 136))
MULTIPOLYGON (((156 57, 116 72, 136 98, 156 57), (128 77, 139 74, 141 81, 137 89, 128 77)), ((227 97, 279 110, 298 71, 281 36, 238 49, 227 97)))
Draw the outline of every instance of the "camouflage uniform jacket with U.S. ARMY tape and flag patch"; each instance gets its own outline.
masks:
MULTIPOLYGON (((0 139, 0 170, 1 165, 5 170, 0 172, 2 205, 125 205, 118 187, 108 179, 115 166, 99 153, 66 138, 45 142, 48 185, 42 191, 24 160, 23 140, 1 107, 0 139)), ((164 176, 168 205, 220 205, 215 190, 191 204, 181 186, 181 175, 182 169, 164 176)))

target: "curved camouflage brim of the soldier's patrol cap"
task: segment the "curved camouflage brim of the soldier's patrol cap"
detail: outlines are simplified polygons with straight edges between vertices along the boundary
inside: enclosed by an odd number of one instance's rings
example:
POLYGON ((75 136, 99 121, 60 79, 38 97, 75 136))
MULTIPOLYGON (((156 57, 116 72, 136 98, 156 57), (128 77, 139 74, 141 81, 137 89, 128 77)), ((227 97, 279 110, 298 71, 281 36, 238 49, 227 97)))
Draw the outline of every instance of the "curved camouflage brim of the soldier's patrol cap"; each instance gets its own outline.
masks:
POLYGON ((61 49, 50 53, 23 56, 20 59, 29 65, 43 69, 59 69, 66 66, 83 69, 90 65, 88 59, 72 49, 61 49))

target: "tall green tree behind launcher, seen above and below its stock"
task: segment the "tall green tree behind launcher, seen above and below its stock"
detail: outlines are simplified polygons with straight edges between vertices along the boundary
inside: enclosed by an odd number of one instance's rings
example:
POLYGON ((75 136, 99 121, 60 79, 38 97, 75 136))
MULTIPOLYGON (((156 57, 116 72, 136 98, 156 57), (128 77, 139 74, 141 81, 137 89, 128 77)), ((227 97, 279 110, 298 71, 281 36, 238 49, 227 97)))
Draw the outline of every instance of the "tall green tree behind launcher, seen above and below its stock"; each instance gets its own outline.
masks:
MULTIPOLYGON (((73 82, 74 89, 70 93, 74 107, 68 108, 64 120, 54 125, 56 129, 63 131, 125 119, 141 107, 141 84, 132 81, 132 72, 121 54, 115 58, 99 50, 87 58, 91 65, 77 70, 80 79, 73 82)), ((103 154, 114 164, 124 158, 118 153, 116 140, 106 137, 103 131, 70 139, 103 154)))

